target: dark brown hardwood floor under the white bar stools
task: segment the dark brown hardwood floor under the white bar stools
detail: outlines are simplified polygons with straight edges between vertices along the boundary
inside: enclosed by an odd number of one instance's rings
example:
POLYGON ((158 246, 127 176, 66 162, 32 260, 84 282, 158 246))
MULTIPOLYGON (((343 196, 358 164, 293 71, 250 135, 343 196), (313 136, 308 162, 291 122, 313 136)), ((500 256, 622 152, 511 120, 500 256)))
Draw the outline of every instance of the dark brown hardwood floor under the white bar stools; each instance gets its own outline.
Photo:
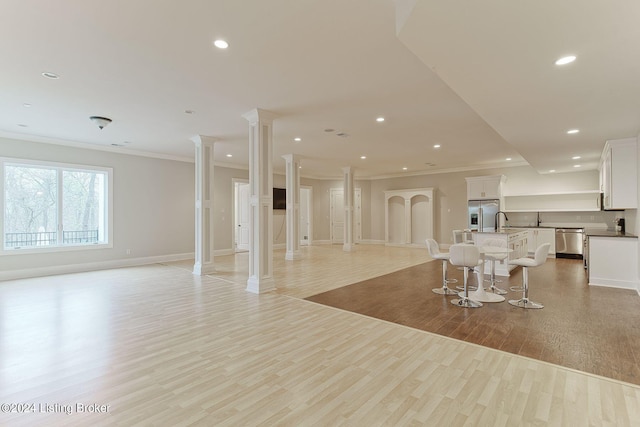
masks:
MULTIPOLYGON (((355 283, 307 298, 387 320, 633 384, 640 384, 640 296, 587 284, 581 260, 549 259, 529 271, 529 297, 541 310, 506 301, 468 309, 437 295, 440 261, 355 283)), ((462 283, 462 271, 449 266, 462 283)), ((500 287, 519 285, 520 268, 500 287)), ((470 280, 475 283, 475 277, 470 280)), ((518 299, 521 292, 509 292, 518 299)))

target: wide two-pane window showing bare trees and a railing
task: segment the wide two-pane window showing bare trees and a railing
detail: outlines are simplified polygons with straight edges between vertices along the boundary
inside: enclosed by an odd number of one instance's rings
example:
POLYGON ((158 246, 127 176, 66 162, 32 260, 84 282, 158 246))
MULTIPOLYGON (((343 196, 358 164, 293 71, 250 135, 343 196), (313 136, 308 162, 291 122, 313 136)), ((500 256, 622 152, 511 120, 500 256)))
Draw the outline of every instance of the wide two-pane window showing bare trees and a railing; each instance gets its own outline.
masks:
POLYGON ((0 160, 5 253, 110 244, 111 169, 0 160))

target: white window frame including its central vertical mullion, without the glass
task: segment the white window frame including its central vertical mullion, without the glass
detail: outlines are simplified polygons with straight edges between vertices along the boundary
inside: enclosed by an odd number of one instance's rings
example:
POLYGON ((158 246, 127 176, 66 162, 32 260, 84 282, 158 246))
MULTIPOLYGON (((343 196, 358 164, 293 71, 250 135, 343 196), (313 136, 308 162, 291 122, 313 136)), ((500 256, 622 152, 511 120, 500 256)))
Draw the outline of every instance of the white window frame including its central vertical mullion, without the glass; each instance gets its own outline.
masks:
POLYGON ((0 256, 4 255, 27 255, 27 254, 42 254, 42 253, 52 253, 52 252, 68 252, 68 251, 78 251, 78 250, 92 250, 92 249, 109 249, 113 248, 113 168, 103 167, 103 166, 93 166, 93 165, 80 165, 73 163, 61 163, 61 162, 50 162, 43 160, 32 160, 32 159, 23 159, 23 158, 12 158, 12 157, 0 157, 0 236, 2 236, 2 243, 0 244, 0 256), (21 248, 5 248, 5 235, 4 235, 4 216, 5 216, 5 204, 6 204, 6 193, 5 193, 5 166, 6 165, 23 165, 26 167, 36 167, 36 168, 48 168, 55 169, 56 174, 58 176, 58 194, 57 194, 57 210, 58 210, 58 231, 61 230, 63 218, 61 216, 62 209, 62 199, 64 197, 61 188, 62 188, 62 180, 59 179, 64 171, 73 171, 73 172, 95 172, 95 173, 103 173, 106 175, 106 197, 105 197, 105 209, 104 214, 106 216, 105 220, 105 241, 104 242, 96 242, 96 243, 71 243, 71 244, 56 244, 56 245, 46 245, 46 246, 36 246, 36 247, 21 247, 21 248))

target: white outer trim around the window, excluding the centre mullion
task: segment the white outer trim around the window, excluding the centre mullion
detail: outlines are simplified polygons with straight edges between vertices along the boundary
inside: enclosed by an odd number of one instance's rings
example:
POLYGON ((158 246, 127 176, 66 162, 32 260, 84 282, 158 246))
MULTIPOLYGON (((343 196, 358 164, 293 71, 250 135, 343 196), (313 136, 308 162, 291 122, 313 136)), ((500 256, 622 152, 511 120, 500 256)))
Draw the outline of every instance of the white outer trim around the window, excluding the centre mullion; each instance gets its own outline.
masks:
POLYGON ((29 255, 29 254, 42 254, 52 252, 69 252, 69 251, 85 251, 94 249, 111 249, 113 248, 113 168, 107 168, 103 166, 92 165, 79 165, 73 163, 61 163, 61 162, 48 162, 43 160, 30 160, 22 158, 12 157, 0 157, 0 236, 2 242, 0 243, 0 256, 6 255, 29 255), (40 246, 20 249, 5 249, 4 248, 4 167, 5 164, 22 164, 27 166, 42 166, 51 167, 63 170, 77 170, 85 172, 103 172, 107 176, 107 221, 105 224, 105 235, 107 241, 105 243, 94 244, 82 244, 82 245, 64 245, 64 246, 40 246))

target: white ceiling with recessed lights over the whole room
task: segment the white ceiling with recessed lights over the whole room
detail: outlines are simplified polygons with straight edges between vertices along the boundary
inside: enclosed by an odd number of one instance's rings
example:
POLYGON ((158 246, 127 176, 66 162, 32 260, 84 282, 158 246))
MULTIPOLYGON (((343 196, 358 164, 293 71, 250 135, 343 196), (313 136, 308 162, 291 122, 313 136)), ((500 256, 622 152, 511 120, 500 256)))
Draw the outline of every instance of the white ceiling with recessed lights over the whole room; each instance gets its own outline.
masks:
POLYGON ((3 0, 0 135, 183 159, 206 135, 246 167, 261 108, 280 173, 289 153, 317 178, 593 169, 640 133, 639 18, 637 0, 3 0))

